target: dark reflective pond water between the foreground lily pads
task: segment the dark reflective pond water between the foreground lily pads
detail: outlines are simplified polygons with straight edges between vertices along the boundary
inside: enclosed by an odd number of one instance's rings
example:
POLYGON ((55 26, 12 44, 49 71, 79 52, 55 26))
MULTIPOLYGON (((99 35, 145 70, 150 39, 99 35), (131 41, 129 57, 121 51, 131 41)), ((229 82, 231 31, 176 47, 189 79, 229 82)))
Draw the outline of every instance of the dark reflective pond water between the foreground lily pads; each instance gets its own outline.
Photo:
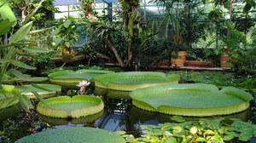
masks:
MULTIPOLYGON (((67 91, 73 92, 73 91, 67 91)), ((76 92, 76 91, 75 91, 76 92)), ((111 92, 112 93, 112 92, 111 92)), ((120 94, 120 93, 118 93, 120 94)), ((127 93, 125 93, 127 94, 127 93)), ((1 111, 0 117, 0 142, 14 142, 23 136, 41 132, 47 129, 67 127, 93 127, 111 131, 123 130, 127 134, 140 136, 139 126, 142 124, 158 124, 173 122, 170 115, 145 112, 132 106, 130 99, 111 99, 107 95, 100 96, 105 103, 103 112, 90 117, 79 117, 76 119, 59 119, 38 115, 35 110, 31 113, 19 112, 19 107, 13 106, 6 111, 1 111), (3 117, 8 116, 9 118, 3 117), (11 115, 13 114, 13 115, 11 115), (4 118, 4 119, 3 119, 4 118)), ((35 101, 36 102, 36 101, 35 101)), ((37 103, 35 103, 36 105, 37 103)), ((243 121, 256 123, 255 117, 255 95, 250 109, 225 118, 237 117, 243 121)), ((195 120, 196 117, 185 117, 186 120, 195 120)))

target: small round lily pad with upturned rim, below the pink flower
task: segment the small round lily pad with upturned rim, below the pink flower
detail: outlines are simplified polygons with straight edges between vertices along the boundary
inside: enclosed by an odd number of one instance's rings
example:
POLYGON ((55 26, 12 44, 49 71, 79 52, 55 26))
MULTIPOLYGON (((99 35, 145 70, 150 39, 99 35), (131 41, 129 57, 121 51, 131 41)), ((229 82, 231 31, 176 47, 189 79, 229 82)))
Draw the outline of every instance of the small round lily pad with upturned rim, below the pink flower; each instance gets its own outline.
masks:
POLYGON ((38 103, 37 111, 49 117, 85 117, 101 112, 104 108, 102 99, 96 96, 76 95, 71 97, 59 96, 38 103))

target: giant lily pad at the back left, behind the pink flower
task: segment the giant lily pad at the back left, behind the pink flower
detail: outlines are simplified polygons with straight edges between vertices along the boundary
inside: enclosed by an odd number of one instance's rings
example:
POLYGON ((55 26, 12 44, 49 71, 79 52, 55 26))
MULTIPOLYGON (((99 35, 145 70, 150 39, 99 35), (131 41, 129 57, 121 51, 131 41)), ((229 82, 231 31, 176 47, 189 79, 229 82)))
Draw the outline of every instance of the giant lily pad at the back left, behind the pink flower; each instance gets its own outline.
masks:
POLYGON ((50 73, 48 77, 50 83, 77 89, 78 87, 76 85, 82 80, 90 81, 93 77, 110 72, 111 71, 103 70, 78 70, 76 72, 73 72, 72 70, 64 70, 50 73))

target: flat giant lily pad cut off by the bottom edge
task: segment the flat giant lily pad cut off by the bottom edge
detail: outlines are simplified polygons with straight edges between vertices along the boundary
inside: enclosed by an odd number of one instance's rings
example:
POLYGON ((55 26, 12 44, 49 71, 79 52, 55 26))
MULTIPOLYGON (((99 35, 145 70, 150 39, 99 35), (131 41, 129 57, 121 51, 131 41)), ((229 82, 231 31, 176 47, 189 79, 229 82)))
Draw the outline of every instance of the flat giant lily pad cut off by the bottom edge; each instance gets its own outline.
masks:
POLYGON ((104 129, 73 127, 51 129, 37 134, 31 134, 15 141, 15 143, 23 142, 125 143, 125 139, 117 133, 104 129))

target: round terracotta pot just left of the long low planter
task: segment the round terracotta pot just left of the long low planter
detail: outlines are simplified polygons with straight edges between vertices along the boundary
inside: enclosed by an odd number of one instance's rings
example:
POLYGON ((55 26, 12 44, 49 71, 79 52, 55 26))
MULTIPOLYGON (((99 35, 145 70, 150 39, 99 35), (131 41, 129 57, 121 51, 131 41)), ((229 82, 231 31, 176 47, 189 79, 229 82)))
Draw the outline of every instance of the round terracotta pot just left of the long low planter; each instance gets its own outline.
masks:
MULTIPOLYGON (((175 53, 172 53, 175 54, 175 53)), ((184 66, 186 61, 187 51, 178 51, 177 58, 172 58, 172 66, 184 66)))

